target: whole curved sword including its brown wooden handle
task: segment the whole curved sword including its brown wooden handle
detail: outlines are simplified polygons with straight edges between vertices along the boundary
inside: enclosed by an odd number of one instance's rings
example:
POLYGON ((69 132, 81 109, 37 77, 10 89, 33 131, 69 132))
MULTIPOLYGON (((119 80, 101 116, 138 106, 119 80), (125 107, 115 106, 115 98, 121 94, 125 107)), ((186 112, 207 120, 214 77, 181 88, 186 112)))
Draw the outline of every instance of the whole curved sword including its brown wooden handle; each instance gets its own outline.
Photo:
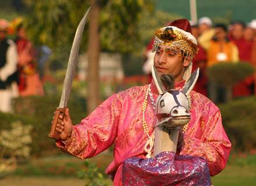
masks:
POLYGON ((61 94, 61 101, 59 102, 59 107, 55 111, 55 117, 52 121, 51 131, 48 135, 50 138, 55 138, 58 140, 59 134, 56 129, 57 120, 60 114, 64 115, 66 106, 68 105, 68 99, 71 92, 72 81, 75 74, 75 67, 78 60, 78 53, 80 42, 82 40, 83 30, 85 28, 85 23, 87 20, 87 16, 89 14, 90 8, 86 11, 85 15, 83 16, 82 20, 80 21, 78 28, 76 29, 75 38, 73 40, 71 52, 68 59, 68 68, 66 69, 66 75, 64 80, 64 85, 62 88, 61 94))

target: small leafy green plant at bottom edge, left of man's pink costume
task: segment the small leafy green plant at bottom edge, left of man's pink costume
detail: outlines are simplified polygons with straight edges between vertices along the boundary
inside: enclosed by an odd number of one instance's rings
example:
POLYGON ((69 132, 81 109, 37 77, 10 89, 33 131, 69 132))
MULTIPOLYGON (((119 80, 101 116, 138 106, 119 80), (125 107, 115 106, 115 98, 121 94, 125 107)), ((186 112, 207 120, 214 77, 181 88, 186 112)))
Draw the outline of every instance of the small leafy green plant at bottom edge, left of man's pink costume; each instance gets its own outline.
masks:
POLYGON ((78 177, 86 180, 85 186, 106 186, 103 174, 99 172, 96 164, 85 160, 85 169, 78 171, 78 177))

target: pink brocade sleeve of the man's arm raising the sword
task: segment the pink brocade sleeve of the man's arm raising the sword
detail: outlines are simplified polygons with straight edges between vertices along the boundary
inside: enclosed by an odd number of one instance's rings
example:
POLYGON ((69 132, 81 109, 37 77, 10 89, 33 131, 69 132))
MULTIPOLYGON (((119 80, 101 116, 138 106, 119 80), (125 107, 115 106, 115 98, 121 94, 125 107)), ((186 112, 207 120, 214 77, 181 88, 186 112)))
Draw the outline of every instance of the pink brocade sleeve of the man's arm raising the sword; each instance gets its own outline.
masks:
POLYGON ((58 148, 78 158, 90 158, 109 148, 117 137, 121 102, 114 94, 80 124, 72 127, 67 141, 57 141, 58 148))

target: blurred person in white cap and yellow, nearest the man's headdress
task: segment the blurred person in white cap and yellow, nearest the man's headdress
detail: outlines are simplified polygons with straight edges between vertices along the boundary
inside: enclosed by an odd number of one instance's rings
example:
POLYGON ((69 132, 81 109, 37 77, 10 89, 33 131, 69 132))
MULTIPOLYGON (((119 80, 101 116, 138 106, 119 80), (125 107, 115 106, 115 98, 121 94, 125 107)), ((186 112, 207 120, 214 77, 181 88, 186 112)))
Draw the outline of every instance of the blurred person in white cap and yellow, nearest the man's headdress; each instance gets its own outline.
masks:
POLYGON ((198 20, 198 42, 205 51, 208 50, 211 39, 215 34, 215 29, 212 28, 212 20, 209 17, 201 17, 198 20))

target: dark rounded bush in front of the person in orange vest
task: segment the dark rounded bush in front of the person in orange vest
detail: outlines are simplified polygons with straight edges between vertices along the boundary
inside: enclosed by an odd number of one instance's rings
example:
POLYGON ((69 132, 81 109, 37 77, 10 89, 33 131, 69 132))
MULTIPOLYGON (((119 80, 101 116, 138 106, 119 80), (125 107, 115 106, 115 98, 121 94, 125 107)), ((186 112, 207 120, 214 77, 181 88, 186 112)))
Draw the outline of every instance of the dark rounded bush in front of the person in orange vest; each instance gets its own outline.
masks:
POLYGON ((246 62, 224 62, 209 67, 206 73, 212 82, 222 87, 233 87, 239 81, 252 75, 254 73, 254 67, 246 62))

